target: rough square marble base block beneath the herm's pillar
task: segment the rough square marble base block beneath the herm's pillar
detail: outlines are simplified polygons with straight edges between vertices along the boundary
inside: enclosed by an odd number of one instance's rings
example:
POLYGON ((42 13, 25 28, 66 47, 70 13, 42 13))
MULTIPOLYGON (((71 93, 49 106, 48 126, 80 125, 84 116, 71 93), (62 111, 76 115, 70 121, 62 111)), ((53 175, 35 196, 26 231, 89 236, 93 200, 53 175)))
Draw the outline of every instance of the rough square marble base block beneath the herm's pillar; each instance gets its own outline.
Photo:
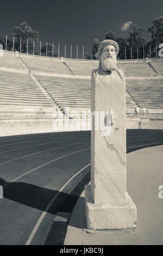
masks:
POLYGON ((127 229, 136 227, 136 206, 126 193, 124 206, 94 204, 91 185, 85 186, 85 211, 89 229, 127 229))

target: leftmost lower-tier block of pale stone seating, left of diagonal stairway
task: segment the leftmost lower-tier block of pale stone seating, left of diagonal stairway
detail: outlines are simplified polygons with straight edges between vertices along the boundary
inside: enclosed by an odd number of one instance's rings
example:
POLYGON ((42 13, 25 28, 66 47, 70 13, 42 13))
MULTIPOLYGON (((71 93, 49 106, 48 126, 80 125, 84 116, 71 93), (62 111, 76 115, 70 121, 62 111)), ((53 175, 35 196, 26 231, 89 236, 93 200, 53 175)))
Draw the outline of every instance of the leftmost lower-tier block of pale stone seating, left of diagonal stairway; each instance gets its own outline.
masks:
POLYGON ((0 119, 51 117, 57 105, 27 73, 0 70, 0 119))

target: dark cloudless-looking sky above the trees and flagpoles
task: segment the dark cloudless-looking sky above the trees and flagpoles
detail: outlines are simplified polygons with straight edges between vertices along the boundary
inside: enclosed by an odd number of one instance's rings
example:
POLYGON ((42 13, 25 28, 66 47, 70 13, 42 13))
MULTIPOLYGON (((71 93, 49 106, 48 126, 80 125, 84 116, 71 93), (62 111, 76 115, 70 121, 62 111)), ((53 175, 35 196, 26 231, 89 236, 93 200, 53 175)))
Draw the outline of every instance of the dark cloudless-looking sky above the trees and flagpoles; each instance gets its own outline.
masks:
POLYGON ((147 28, 152 20, 163 15, 162 0, 8 0, 0 5, 0 36, 8 36, 14 25, 26 21, 35 31, 39 31, 42 42, 60 43, 61 55, 67 44, 67 57, 70 45, 78 44, 79 58, 82 45, 91 54, 94 38, 105 39, 108 29, 116 34, 127 35, 133 24, 143 26, 144 36, 149 39, 147 28), (131 21, 129 29, 121 30, 121 25, 131 21))

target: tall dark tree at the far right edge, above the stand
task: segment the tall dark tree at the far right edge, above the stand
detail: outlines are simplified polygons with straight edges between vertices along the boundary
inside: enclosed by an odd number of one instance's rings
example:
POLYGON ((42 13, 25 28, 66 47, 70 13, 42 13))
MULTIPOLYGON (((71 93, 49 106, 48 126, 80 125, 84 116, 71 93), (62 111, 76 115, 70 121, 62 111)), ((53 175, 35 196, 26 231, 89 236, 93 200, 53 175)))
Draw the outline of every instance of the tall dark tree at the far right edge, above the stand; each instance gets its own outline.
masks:
POLYGON ((151 33, 152 40, 149 41, 149 45, 151 44, 152 57, 155 57, 155 46, 157 45, 158 47, 163 42, 163 16, 152 20, 152 25, 148 27, 148 33, 151 33))

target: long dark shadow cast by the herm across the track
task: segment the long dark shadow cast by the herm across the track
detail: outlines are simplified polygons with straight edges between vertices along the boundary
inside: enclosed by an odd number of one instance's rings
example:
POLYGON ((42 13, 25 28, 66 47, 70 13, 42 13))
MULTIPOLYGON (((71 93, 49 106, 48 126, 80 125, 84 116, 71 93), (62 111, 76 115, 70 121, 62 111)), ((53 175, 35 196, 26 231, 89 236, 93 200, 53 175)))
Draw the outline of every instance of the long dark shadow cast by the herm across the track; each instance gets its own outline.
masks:
MULTIPOLYGON (((57 198, 47 212, 53 215, 57 215, 58 211, 72 213, 80 194, 84 190, 84 185, 89 183, 89 181, 90 172, 87 173, 82 180, 80 180, 70 194, 59 192, 57 198)), ((24 182, 5 182, 5 180, 1 178, 0 185, 3 186, 4 199, 6 198, 41 211, 45 211, 46 206, 49 204, 51 199, 55 196, 55 194, 58 193, 56 190, 50 190, 48 188, 43 188, 24 182)))

